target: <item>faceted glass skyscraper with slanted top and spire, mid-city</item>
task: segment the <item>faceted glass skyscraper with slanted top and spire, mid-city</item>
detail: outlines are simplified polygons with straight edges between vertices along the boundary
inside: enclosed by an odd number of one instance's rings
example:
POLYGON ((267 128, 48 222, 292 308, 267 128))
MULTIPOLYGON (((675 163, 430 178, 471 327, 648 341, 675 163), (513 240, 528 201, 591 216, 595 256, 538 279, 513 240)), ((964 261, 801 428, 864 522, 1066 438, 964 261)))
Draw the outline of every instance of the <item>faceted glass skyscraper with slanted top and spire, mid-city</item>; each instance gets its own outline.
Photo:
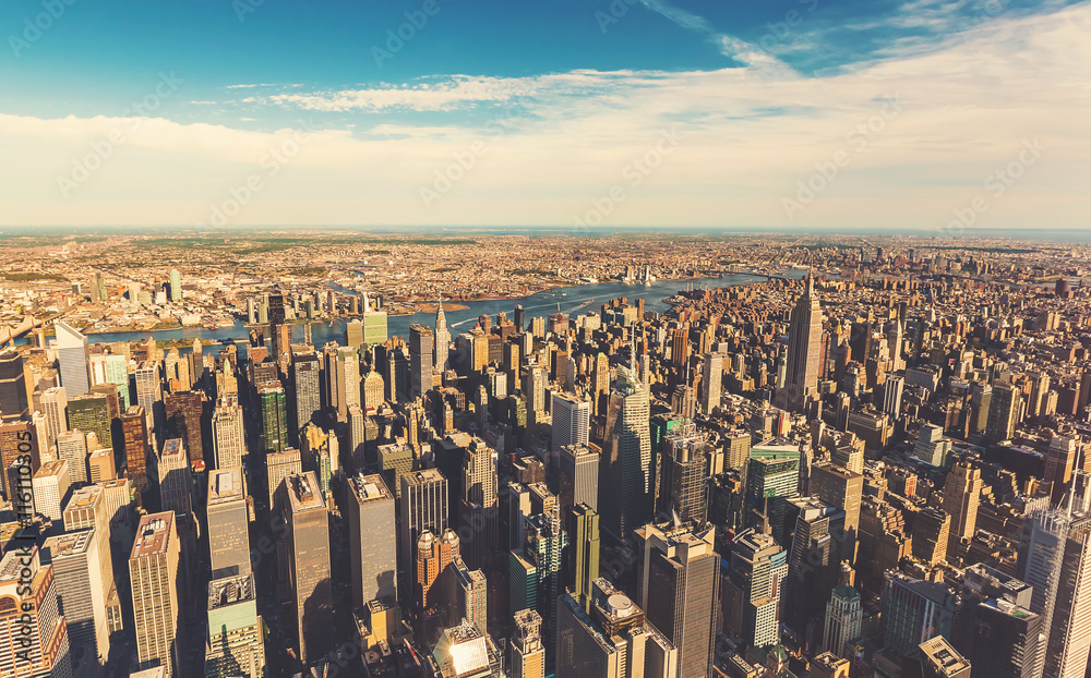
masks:
POLYGON ((603 450, 602 488, 618 499, 603 501, 602 524, 622 541, 647 524, 655 510, 651 473, 651 428, 648 392, 636 376, 618 367, 618 388, 607 408, 607 448, 603 450))

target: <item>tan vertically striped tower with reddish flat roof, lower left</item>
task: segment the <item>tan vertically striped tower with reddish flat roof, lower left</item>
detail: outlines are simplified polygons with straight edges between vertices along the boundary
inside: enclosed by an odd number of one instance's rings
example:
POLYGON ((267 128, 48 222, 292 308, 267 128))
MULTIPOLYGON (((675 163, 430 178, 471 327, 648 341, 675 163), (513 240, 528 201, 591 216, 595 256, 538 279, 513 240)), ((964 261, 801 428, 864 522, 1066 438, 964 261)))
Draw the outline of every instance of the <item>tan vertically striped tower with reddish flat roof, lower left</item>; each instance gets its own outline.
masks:
POLYGON ((184 647, 180 623, 179 538, 170 511, 141 518, 129 556, 133 613, 136 618, 136 659, 141 669, 161 666, 164 675, 181 676, 184 647))

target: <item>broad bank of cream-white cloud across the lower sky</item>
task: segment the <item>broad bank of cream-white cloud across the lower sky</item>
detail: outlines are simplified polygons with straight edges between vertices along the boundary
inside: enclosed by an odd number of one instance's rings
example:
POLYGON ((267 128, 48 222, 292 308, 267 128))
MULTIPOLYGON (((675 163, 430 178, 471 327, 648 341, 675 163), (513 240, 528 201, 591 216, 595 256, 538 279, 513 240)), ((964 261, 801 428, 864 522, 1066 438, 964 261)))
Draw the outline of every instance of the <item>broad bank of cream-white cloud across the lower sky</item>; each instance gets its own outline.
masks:
POLYGON ((276 175, 262 160, 293 141, 290 129, 166 119, 130 129, 131 120, 117 118, 0 114, 0 157, 17 159, 0 164, 0 222, 193 223, 259 174, 267 187, 236 223, 571 223, 623 184, 627 197, 607 225, 778 226, 790 222, 782 198, 844 150, 850 165, 791 223, 938 227, 1022 140, 1040 137, 1050 150, 991 203, 980 226, 1080 227, 1091 217, 1082 185, 1089 37, 1091 5, 1082 4, 999 17, 943 49, 825 77, 756 66, 576 71, 278 93, 251 102, 313 111, 320 131, 276 175), (884 95, 898 95, 903 110, 858 149, 848 136, 878 114, 884 95), (469 123, 463 109, 478 107, 494 111, 492 119, 469 123), (374 111, 407 114, 375 124, 374 111), (415 124, 411 111, 440 114, 415 124), (326 112, 355 126, 323 130, 326 112), (57 177, 115 129, 127 131, 125 143, 61 197, 57 177), (630 186, 626 165, 671 129, 683 135, 679 147, 630 186), (485 153, 425 209, 420 187, 476 143, 485 153))

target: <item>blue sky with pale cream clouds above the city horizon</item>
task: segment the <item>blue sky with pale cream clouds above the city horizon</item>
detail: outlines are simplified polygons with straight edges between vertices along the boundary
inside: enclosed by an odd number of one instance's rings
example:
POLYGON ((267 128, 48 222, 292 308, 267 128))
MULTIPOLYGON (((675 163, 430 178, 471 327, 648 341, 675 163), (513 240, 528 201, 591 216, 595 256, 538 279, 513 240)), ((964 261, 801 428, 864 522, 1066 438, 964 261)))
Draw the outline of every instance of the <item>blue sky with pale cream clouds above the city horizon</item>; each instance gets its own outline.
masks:
POLYGON ((1089 228, 1091 2, 4 0, 0 228, 1089 228))

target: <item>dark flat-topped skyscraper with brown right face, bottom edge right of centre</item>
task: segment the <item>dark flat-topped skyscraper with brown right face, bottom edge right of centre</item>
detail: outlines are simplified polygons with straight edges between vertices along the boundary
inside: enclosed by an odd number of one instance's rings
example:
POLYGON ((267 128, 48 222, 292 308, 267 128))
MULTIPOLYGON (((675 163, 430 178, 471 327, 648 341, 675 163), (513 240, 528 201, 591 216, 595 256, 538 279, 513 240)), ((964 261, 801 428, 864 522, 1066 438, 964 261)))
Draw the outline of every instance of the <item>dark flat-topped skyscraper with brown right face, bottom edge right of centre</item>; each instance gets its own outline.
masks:
POLYGON ((720 591, 714 530, 645 525, 637 535, 637 591, 648 621, 679 652, 679 678, 705 678, 712 665, 720 591))

